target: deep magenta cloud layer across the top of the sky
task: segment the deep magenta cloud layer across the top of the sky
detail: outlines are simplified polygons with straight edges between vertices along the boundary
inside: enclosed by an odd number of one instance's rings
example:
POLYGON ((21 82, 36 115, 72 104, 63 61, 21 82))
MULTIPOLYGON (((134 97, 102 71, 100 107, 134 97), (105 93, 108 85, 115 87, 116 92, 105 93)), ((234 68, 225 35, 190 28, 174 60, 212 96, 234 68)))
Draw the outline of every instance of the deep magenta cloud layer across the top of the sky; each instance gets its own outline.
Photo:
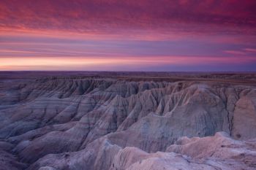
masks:
POLYGON ((116 32, 117 29, 255 31, 256 1, 0 1, 0 28, 116 32), (196 27, 195 27, 196 26, 196 27))

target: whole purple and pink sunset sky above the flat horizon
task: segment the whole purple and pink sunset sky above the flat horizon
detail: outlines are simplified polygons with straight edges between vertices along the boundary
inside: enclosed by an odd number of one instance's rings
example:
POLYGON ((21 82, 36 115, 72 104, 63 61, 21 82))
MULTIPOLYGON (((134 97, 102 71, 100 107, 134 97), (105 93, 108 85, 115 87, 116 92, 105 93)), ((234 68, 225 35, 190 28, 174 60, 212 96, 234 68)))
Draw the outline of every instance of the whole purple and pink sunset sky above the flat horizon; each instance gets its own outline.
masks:
POLYGON ((0 70, 256 72, 255 0, 1 0, 0 70))

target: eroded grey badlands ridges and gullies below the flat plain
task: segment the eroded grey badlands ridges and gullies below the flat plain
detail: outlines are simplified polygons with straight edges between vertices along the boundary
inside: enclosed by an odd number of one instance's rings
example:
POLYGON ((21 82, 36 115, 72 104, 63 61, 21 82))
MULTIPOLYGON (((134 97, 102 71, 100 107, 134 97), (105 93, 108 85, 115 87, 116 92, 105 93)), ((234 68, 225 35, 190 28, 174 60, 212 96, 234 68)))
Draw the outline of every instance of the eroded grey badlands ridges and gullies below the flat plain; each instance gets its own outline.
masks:
POLYGON ((256 83, 238 75, 3 78, 0 169, 256 169, 256 83))

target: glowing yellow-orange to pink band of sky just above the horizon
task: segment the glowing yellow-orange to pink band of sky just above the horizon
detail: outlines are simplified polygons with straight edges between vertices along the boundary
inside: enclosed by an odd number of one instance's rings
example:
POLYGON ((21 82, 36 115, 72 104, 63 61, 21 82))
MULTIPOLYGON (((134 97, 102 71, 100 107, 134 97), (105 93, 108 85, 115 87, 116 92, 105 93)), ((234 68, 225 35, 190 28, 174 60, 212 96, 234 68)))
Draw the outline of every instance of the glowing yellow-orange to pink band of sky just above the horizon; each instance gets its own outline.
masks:
MULTIPOLYGON (((237 58, 230 61, 230 58, 215 58, 215 57, 196 57, 196 56, 162 56, 162 57, 125 57, 125 58, 102 58, 102 57, 18 57, 18 58, 0 58, 0 71, 10 70, 98 70, 105 71, 112 68, 117 71, 125 71, 126 68, 140 67, 142 64, 146 66, 161 66, 165 64, 172 65, 198 65, 204 63, 245 63, 255 62, 255 58, 237 58), (115 66, 120 66, 122 69, 115 69, 115 66), (124 66, 124 67, 123 67, 124 66), (100 69, 99 69, 100 68, 100 69)), ((128 69, 129 70, 129 69, 128 69)))

